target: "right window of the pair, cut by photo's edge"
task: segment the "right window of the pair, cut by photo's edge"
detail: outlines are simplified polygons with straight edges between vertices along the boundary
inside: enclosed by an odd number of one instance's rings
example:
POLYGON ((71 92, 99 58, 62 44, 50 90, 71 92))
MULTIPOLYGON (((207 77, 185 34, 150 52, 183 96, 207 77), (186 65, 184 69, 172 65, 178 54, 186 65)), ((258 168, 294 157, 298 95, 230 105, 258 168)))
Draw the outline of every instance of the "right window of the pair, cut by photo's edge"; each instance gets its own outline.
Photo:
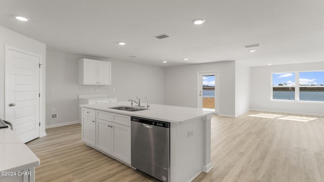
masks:
POLYGON ((324 102, 324 71, 299 73, 299 100, 324 102))

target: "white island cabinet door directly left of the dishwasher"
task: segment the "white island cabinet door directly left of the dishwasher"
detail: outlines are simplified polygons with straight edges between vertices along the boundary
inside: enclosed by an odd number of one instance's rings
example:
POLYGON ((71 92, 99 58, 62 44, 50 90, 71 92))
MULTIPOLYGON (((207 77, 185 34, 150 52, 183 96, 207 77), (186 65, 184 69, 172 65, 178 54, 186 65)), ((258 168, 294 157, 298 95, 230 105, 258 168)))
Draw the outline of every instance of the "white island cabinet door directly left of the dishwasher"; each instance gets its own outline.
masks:
POLYGON ((131 164, 131 127, 112 123, 111 155, 131 164))

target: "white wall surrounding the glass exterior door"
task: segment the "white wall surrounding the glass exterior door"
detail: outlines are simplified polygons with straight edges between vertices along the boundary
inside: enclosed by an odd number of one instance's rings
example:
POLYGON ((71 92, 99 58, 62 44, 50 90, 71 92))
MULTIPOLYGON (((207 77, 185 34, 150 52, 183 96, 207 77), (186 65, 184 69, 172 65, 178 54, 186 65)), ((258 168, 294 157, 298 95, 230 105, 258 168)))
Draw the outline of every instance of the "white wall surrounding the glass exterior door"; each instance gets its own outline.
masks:
POLYGON ((219 115, 235 116, 235 61, 165 68, 165 104, 197 107, 197 72, 218 70, 219 115))

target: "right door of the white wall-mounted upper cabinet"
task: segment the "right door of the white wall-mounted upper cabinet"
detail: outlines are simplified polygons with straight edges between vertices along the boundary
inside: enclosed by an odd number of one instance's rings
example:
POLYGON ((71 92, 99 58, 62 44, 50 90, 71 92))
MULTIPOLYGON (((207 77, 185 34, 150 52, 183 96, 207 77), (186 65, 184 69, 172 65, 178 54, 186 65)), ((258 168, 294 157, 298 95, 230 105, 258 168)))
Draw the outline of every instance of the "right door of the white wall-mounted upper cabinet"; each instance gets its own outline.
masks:
POLYGON ((111 63, 106 61, 98 61, 98 84, 111 84, 111 63))

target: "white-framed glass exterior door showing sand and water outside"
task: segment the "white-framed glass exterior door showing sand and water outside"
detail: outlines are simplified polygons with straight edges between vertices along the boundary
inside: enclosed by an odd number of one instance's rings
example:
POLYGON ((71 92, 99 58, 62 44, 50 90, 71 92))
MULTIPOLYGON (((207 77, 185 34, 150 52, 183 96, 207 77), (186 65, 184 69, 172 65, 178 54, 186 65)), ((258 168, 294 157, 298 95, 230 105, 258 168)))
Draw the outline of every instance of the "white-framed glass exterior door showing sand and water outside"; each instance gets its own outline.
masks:
POLYGON ((218 114, 217 71, 198 72, 198 108, 215 110, 218 114))

